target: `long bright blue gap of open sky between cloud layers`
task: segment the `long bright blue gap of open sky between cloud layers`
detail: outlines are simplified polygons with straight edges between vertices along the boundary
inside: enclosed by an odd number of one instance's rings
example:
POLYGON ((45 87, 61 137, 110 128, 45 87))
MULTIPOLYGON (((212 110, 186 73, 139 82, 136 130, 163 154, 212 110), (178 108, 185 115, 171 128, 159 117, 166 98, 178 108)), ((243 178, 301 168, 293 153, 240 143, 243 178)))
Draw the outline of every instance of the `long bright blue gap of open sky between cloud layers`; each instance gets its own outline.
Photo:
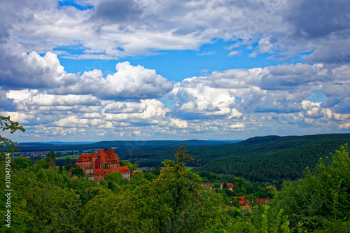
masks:
MULTIPOLYGON (((286 63, 286 60, 269 59, 272 54, 265 53, 257 57, 249 57, 252 50, 241 48, 239 55, 230 57, 228 46, 232 41, 213 40, 196 50, 160 50, 157 55, 126 57, 120 59, 59 59, 65 70, 70 73, 101 69, 104 75, 116 72, 118 62, 130 62, 133 66, 141 65, 147 69, 155 69, 161 76, 169 80, 181 82, 184 78, 203 76, 212 71, 227 69, 251 69, 286 63), (93 63, 94 62, 94 63, 93 63), (181 69, 179 69, 181 67, 181 69)), ((59 48, 66 52, 82 53, 81 49, 59 48)), ((300 57, 292 57, 289 61, 300 62, 300 57)))

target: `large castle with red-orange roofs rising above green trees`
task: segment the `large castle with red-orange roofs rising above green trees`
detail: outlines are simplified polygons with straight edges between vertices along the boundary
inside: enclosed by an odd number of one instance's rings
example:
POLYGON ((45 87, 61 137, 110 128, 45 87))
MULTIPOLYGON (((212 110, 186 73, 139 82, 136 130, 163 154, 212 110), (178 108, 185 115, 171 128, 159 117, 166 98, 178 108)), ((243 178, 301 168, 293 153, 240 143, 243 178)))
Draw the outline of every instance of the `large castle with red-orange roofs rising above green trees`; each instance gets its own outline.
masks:
POLYGON ((119 172, 123 178, 130 179, 132 172, 127 166, 120 166, 120 161, 113 149, 102 149, 97 153, 80 155, 76 164, 92 181, 102 181, 106 174, 119 172))

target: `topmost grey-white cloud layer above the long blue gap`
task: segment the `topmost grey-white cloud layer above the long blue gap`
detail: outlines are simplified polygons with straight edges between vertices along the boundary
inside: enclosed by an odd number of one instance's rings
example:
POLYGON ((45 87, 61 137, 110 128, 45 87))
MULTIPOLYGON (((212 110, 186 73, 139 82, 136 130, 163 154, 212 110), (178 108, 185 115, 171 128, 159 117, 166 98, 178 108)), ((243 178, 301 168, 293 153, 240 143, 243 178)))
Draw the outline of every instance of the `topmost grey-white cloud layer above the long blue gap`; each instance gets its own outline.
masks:
MULTIPOLYGON (((16 41, 22 52, 59 48, 62 56, 73 59, 118 59, 196 50, 221 38, 232 41, 231 49, 252 48, 251 57, 268 52, 271 58, 288 59, 307 53, 307 61, 333 62, 335 54, 344 52, 343 60, 349 62, 346 0, 77 3, 94 8, 57 8, 54 1, 4 3, 0 41, 16 41), (64 51, 71 45, 79 45, 83 53, 64 51)), ((237 55, 232 52, 230 56, 237 55)))

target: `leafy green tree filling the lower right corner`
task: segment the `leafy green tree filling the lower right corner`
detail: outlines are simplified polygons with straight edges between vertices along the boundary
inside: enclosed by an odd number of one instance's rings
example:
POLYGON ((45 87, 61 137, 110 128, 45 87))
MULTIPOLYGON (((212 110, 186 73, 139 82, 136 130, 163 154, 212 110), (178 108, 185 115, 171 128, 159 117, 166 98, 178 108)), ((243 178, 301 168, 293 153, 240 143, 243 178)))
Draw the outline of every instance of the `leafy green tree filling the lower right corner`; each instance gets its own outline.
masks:
MULTIPOLYGON (((285 181, 281 191, 277 192, 275 202, 283 208, 284 214, 292 216, 290 222, 294 226, 302 223, 314 231, 324 228, 325 224, 341 226, 344 222, 349 227, 350 222, 345 221, 350 209, 348 145, 341 146, 341 150, 330 156, 329 161, 328 157, 326 162, 319 160, 314 174, 307 168, 304 178, 285 181)), ((332 228, 329 230, 332 231, 332 228)))

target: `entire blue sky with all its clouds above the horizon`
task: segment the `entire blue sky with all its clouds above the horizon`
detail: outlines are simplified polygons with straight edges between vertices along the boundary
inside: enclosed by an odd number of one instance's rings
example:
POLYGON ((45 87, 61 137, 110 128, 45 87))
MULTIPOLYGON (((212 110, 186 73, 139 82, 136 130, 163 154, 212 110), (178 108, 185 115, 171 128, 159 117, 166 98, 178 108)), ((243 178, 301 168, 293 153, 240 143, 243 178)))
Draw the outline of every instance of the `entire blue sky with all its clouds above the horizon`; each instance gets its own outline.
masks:
POLYGON ((18 142, 350 132, 347 0, 0 2, 18 142))

